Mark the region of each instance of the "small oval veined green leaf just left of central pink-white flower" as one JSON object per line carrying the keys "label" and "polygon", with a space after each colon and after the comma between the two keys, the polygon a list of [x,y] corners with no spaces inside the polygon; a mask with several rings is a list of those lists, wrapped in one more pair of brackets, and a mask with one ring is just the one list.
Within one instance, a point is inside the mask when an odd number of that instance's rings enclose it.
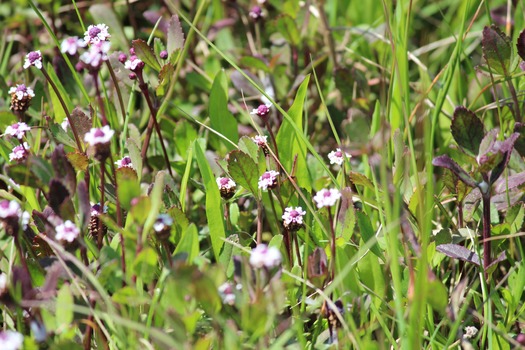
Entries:
{"label": "small oval veined green leaf just left of central pink-white flower", "polygon": [[259,172],[257,164],[249,155],[241,151],[231,151],[228,157],[228,172],[236,183],[257,196]]}

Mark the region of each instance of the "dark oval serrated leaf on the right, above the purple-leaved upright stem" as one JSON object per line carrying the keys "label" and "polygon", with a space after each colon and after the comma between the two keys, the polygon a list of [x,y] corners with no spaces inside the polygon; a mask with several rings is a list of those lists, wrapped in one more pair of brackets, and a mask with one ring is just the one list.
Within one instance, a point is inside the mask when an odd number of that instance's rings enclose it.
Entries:
{"label": "dark oval serrated leaf on the right, above the purple-leaved upright stem", "polygon": [[467,108],[460,106],[454,110],[450,131],[457,144],[473,156],[479,153],[479,145],[485,135],[483,123]]}

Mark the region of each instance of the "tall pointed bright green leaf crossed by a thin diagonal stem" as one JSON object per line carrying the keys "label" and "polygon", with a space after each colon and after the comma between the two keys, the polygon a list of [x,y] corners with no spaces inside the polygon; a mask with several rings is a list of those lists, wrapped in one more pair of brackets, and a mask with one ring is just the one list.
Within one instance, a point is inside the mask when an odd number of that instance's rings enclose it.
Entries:
{"label": "tall pointed bright green leaf crossed by a thin diagonal stem", "polygon": [[295,129],[291,124],[293,122],[299,130],[303,130],[303,108],[309,81],[310,76],[308,75],[297,90],[294,103],[288,111],[291,121],[285,119],[277,132],[277,147],[279,148],[280,161],[288,171],[291,171],[294,158],[297,155],[295,171],[297,184],[299,187],[311,191],[310,173],[306,166],[306,144],[301,140],[301,137],[295,133]]}

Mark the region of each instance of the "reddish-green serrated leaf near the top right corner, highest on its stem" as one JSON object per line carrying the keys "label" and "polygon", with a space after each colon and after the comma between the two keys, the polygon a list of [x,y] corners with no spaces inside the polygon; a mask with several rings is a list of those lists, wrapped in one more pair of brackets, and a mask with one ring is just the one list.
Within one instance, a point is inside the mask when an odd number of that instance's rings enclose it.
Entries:
{"label": "reddish-green serrated leaf near the top right corner, highest on its stem", "polygon": [[483,28],[481,45],[483,57],[490,69],[497,74],[508,76],[512,55],[510,38],[498,27],[486,26]]}

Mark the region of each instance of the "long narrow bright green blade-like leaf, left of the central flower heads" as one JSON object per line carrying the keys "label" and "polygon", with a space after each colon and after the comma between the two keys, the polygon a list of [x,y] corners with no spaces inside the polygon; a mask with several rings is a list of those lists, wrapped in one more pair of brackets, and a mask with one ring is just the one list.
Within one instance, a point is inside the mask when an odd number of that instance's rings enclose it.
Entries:
{"label": "long narrow bright green blade-like leaf, left of the central flower heads", "polygon": [[195,140],[193,143],[195,148],[195,157],[197,158],[197,164],[202,175],[202,181],[206,188],[206,218],[208,219],[208,227],[210,229],[210,239],[213,248],[213,254],[215,259],[218,260],[221,252],[222,245],[224,244],[224,237],[226,233],[224,231],[224,213],[222,210],[221,195],[215,176],[208,164],[208,160],[204,155],[199,141]]}

